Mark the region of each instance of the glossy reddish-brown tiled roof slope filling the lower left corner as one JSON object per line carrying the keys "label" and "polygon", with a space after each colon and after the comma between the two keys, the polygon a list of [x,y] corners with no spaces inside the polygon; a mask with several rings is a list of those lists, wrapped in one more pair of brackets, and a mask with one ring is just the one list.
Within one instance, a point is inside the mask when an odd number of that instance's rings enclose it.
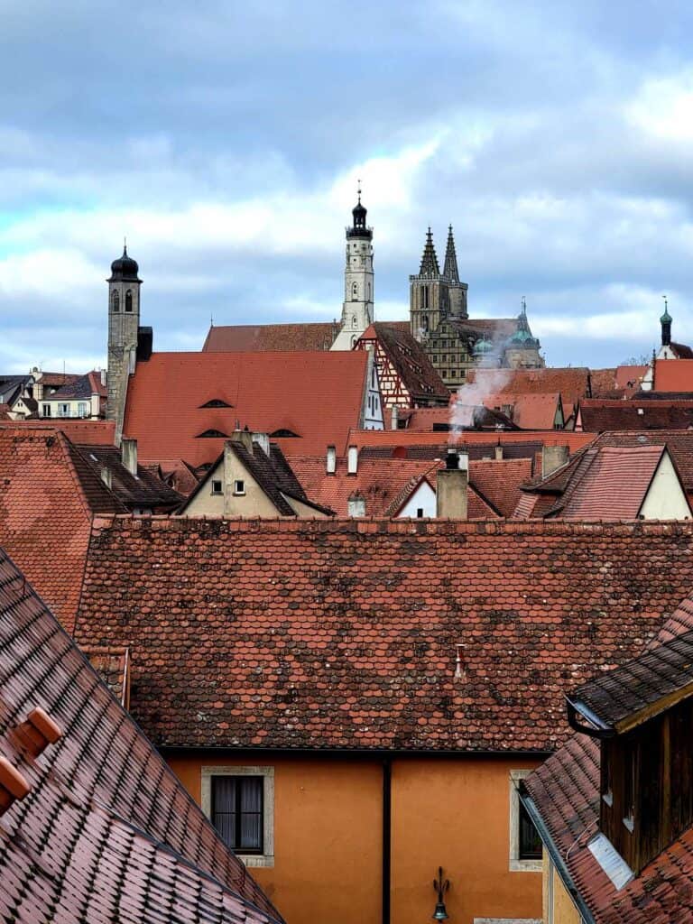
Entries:
{"label": "glossy reddish-brown tiled roof slope filling the lower left corner", "polygon": [[[0,650],[0,754],[30,784],[2,817],[0,919],[280,919],[2,551]],[[63,736],[33,758],[15,729],[37,706]]]}

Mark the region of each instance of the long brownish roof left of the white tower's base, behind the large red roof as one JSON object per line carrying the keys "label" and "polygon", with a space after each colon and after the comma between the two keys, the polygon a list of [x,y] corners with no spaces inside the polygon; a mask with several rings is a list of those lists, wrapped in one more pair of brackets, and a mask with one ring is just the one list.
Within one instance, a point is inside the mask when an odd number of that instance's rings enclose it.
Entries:
{"label": "long brownish roof left of the white tower's base, behind the large red roof", "polygon": [[327,350],[339,324],[231,324],[210,327],[202,346],[205,353],[245,353]]}

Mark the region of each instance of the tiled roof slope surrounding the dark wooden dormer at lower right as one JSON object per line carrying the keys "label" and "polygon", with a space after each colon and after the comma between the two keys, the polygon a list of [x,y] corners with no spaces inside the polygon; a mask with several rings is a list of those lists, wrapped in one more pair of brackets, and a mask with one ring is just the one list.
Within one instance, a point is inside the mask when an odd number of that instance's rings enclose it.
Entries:
{"label": "tiled roof slope surrounding the dark wooden dormer at lower right", "polygon": [[[650,650],[691,629],[693,602],[687,597],[650,643]],[[693,828],[616,891],[587,847],[599,822],[599,787],[599,742],[585,735],[569,738],[523,781],[594,920],[688,924],[693,917]]]}

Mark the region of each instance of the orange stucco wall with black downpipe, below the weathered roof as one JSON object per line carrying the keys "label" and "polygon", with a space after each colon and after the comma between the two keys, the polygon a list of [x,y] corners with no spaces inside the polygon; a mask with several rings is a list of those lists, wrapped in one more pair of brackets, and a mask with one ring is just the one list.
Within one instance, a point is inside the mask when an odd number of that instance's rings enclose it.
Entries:
{"label": "orange stucco wall with black downpipe, below the weathered roof", "polygon": [[[274,869],[253,869],[288,924],[381,924],[379,761],[170,757],[201,800],[201,766],[274,766]],[[439,866],[451,921],[541,918],[541,872],[508,871],[509,774],[531,760],[393,760],[392,924],[431,919]]]}

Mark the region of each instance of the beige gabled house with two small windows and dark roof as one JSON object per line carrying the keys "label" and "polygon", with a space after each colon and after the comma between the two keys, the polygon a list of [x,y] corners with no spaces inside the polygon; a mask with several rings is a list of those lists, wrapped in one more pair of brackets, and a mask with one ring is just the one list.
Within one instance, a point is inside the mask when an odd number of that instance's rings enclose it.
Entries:
{"label": "beige gabled house with two small windows and dark roof", "polygon": [[178,511],[188,517],[332,517],[310,502],[266,433],[237,430]]}

